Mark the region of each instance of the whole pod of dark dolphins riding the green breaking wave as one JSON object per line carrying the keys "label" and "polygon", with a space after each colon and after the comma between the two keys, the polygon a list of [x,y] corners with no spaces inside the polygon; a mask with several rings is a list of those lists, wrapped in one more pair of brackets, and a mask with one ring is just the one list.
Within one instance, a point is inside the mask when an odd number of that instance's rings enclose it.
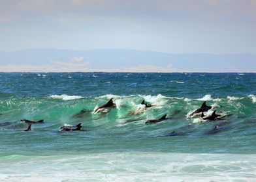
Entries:
{"label": "whole pod of dark dolphins riding the green breaking wave", "polygon": [[[154,105],[150,105],[150,104],[146,103],[144,100],[142,101],[141,105],[144,105],[144,108],[150,108],[150,107],[154,106]],[[101,112],[103,110],[111,109],[112,107],[116,107],[116,104],[113,102],[113,99],[111,98],[107,103],[104,103],[100,107],[97,107],[97,109],[94,110],[93,114],[95,114],[97,112]],[[202,103],[202,105],[199,107],[199,109],[195,109],[192,112],[188,113],[187,118],[192,118],[193,116],[198,116],[200,114],[200,118],[202,120],[212,121],[212,120],[223,120],[223,118],[225,118],[226,116],[230,116],[230,115],[217,114],[216,110],[214,110],[212,112],[212,114],[205,116],[204,112],[208,112],[208,110],[210,110],[210,109],[213,109],[213,107],[206,105],[206,101],[204,101]],[[88,110],[82,109],[82,110],[80,110],[80,112],[72,115],[71,118],[82,118],[83,114],[85,114],[87,112],[88,112]],[[177,114],[177,113],[175,113],[175,114]],[[135,121],[138,121],[141,119],[142,118],[127,120],[124,123],[135,122]],[[165,114],[161,118],[147,120],[145,122],[145,124],[159,123],[159,122],[163,122],[165,120],[171,120],[171,119],[172,119],[172,117],[167,117],[167,114]],[[20,122],[27,123],[27,125],[28,125],[27,129],[25,129],[24,131],[32,131],[31,125],[38,124],[38,123],[44,123],[44,120],[31,121],[31,120],[23,119],[23,120],[20,120]],[[217,131],[219,131],[219,129],[221,129],[221,127],[222,127],[221,125],[223,125],[224,123],[227,123],[227,122],[221,122],[221,123],[215,125],[214,128],[212,130],[208,131],[208,133],[206,133],[206,134],[217,133]],[[0,123],[0,126],[9,125],[9,124],[10,124],[9,122]],[[81,130],[81,128],[82,128],[82,123],[78,123],[77,125],[63,125],[62,127],[59,127],[59,131],[76,131],[76,130]],[[180,133],[176,133],[175,131],[172,131],[172,133],[165,135],[165,136],[176,136],[176,135],[180,135]]]}

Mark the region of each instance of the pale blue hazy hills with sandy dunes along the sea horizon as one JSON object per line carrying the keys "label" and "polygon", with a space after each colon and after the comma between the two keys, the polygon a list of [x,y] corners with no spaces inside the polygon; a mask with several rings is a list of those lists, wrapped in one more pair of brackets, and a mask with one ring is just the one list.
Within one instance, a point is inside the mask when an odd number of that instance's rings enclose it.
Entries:
{"label": "pale blue hazy hills with sandy dunes along the sea horizon", "polygon": [[256,55],[25,49],[0,51],[0,72],[256,72]]}

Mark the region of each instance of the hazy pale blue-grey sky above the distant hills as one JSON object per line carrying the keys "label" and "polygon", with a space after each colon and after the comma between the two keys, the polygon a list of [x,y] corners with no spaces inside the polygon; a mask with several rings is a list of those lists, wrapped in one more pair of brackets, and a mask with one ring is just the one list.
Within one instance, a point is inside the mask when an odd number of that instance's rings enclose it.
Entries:
{"label": "hazy pale blue-grey sky above the distant hills", "polygon": [[256,53],[256,0],[0,0],[0,50]]}

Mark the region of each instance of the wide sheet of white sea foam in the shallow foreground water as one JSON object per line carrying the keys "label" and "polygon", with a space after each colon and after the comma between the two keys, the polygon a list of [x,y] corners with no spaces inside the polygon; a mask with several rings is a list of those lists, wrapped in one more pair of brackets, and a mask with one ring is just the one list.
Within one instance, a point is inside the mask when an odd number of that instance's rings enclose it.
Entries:
{"label": "wide sheet of white sea foam in the shallow foreground water", "polygon": [[255,181],[255,165],[255,154],[16,155],[2,157],[0,181]]}

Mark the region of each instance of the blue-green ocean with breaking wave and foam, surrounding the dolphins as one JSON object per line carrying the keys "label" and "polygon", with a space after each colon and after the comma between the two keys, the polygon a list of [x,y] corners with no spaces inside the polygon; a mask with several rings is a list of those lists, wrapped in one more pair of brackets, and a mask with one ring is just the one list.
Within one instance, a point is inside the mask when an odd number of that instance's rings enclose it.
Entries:
{"label": "blue-green ocean with breaking wave and foam, surrounding the dolphins", "polygon": [[[256,73],[0,73],[0,181],[256,181],[255,88]],[[189,118],[203,101],[225,119]]]}

